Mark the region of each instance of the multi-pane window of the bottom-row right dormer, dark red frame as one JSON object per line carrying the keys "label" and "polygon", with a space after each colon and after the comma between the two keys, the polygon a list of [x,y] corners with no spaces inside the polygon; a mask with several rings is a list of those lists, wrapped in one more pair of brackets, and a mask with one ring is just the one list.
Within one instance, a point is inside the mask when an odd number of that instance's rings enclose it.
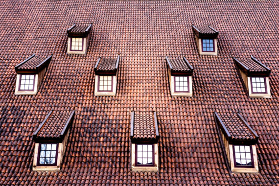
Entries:
{"label": "multi-pane window of the bottom-row right dormer, dark red frame", "polygon": [[235,167],[254,167],[251,145],[234,145],[233,156]]}

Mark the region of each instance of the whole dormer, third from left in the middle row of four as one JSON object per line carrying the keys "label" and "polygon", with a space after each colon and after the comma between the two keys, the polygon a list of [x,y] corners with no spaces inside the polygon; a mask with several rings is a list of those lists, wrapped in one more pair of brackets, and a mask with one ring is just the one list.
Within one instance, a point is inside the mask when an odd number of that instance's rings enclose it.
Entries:
{"label": "whole dormer, third from left in the middle row of four", "polygon": [[168,66],[169,84],[171,95],[173,96],[192,96],[192,75],[193,67],[186,58],[168,58],[166,57]]}

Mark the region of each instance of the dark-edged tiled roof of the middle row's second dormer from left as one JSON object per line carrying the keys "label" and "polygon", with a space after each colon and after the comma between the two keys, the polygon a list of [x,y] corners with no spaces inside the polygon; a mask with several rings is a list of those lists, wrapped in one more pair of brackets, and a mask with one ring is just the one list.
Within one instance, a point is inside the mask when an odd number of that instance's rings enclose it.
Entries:
{"label": "dark-edged tiled roof of the middle row's second dormer from left", "polygon": [[94,71],[97,75],[116,75],[118,65],[119,65],[120,56],[118,55],[117,58],[99,58],[95,67]]}

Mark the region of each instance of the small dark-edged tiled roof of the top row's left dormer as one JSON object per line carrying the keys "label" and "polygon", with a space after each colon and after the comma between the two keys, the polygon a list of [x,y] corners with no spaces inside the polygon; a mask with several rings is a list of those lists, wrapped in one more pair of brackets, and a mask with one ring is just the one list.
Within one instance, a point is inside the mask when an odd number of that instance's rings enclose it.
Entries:
{"label": "small dark-edged tiled roof of the top row's left dormer", "polygon": [[69,37],[85,38],[91,31],[92,24],[73,24],[68,30]]}

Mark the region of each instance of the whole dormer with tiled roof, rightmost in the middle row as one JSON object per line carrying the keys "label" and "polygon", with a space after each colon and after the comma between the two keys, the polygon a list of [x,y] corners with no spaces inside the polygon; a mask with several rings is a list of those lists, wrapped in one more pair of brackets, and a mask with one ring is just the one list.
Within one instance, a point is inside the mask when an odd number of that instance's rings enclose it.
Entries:
{"label": "whole dormer with tiled roof, rightmost in the middle row", "polygon": [[271,97],[269,86],[271,70],[268,67],[253,56],[248,60],[233,58],[233,61],[250,97]]}

